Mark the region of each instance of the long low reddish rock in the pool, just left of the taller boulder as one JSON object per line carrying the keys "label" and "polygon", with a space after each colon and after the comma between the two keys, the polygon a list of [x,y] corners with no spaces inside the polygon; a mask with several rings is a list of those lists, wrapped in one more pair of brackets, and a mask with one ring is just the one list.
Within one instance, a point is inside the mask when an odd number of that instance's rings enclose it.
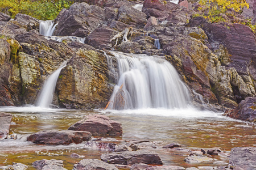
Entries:
{"label": "long low reddish rock in the pool, just left of the taller boulder", "polygon": [[73,130],[44,130],[32,134],[27,138],[40,145],[69,145],[70,143],[81,143],[88,141],[92,134],[88,131],[73,131]]}

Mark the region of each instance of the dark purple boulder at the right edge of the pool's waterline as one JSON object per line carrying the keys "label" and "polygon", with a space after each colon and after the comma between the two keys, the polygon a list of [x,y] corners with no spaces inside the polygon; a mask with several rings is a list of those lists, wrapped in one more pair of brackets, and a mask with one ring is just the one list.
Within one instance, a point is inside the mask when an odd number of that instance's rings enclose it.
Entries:
{"label": "dark purple boulder at the right edge of the pool's waterline", "polygon": [[247,97],[242,100],[236,109],[227,115],[242,121],[256,122],[256,97]]}

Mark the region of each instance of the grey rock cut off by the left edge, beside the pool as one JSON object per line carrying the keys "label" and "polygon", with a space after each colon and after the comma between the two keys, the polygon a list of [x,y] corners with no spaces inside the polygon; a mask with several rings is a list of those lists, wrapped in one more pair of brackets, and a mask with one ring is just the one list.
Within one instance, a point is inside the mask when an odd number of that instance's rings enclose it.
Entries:
{"label": "grey rock cut off by the left edge, beside the pool", "polygon": [[0,141],[6,139],[9,134],[11,118],[13,115],[9,113],[0,113]]}

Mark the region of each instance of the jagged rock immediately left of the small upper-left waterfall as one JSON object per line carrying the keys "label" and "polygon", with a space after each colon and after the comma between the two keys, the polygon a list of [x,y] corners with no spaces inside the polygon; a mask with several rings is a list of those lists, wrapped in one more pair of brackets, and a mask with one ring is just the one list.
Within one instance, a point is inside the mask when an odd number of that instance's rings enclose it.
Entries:
{"label": "jagged rock immediately left of the small upper-left waterfall", "polygon": [[16,14],[14,20],[11,22],[19,25],[20,28],[26,29],[26,31],[35,29],[39,32],[40,21],[32,16],[26,14]]}

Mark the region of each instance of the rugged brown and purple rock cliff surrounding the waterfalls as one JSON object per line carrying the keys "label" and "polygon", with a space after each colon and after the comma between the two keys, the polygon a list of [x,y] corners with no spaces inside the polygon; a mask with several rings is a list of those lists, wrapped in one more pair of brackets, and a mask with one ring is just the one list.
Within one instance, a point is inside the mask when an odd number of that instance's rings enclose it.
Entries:
{"label": "rugged brown and purple rock cliff surrounding the waterfalls", "polygon": [[[133,7],[136,4],[143,5],[142,11]],[[23,14],[10,20],[1,14],[0,105],[34,104],[47,76],[69,60],[57,81],[55,104],[105,107],[113,85],[101,50],[114,49],[165,56],[199,107],[198,95],[212,109],[237,107],[256,95],[255,33],[242,24],[191,19],[191,6],[158,0],[74,3],[55,19],[54,35],[85,37],[86,44],[47,40],[38,33],[39,20]],[[246,15],[254,18],[253,12]],[[127,41],[122,42],[123,36]]]}

